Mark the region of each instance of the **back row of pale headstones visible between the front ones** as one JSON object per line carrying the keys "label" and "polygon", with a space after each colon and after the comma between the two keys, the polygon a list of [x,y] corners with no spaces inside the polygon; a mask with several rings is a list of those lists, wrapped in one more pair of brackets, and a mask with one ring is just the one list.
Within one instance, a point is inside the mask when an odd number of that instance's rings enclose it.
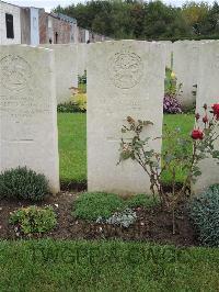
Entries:
{"label": "back row of pale headstones visible between the front ones", "polygon": [[[217,41],[161,41],[165,45],[165,66],[173,69],[177,83],[182,83],[177,99],[183,109],[195,105],[196,86],[198,82],[198,59],[204,43]],[[55,50],[57,102],[68,102],[71,87],[78,87],[78,76],[87,70],[88,44],[79,45],[45,45]],[[65,77],[65,78],[64,78]]]}

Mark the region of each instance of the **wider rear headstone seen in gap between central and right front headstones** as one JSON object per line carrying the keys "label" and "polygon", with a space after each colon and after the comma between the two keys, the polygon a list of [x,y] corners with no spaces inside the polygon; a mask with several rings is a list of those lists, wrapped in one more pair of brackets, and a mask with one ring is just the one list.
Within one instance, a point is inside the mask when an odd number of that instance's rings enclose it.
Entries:
{"label": "wider rear headstone seen in gap between central and right front headstones", "polygon": [[178,97],[184,109],[195,105],[195,96],[198,78],[198,56],[201,42],[178,41],[173,43],[173,71],[177,82],[183,83],[182,93]]}

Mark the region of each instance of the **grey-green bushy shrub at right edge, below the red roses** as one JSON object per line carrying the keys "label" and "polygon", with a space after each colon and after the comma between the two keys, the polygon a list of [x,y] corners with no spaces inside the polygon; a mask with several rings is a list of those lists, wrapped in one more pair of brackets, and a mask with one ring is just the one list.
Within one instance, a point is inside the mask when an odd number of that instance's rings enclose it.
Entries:
{"label": "grey-green bushy shrub at right edge, below the red roses", "polygon": [[219,184],[192,199],[188,212],[199,240],[219,247]]}

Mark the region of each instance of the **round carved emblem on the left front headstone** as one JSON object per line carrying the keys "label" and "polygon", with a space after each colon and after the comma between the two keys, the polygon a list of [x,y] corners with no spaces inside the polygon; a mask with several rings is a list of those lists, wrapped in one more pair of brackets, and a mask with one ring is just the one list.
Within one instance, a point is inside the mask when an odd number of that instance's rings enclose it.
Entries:
{"label": "round carved emblem on the left front headstone", "polygon": [[24,58],[16,55],[8,55],[0,59],[0,77],[8,90],[24,90],[27,87],[31,75],[31,66]]}

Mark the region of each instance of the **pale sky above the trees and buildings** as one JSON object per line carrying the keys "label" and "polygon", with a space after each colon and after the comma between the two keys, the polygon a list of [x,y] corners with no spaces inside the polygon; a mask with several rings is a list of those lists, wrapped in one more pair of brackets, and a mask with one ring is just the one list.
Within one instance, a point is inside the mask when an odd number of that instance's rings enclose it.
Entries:
{"label": "pale sky above the trees and buildings", "polygon": [[[72,3],[84,2],[85,0],[3,0],[4,2],[21,5],[21,7],[38,7],[45,8],[47,12],[50,12],[53,8],[56,8],[58,4],[66,7]],[[164,0],[165,3],[173,5],[181,5],[186,2],[186,0]],[[195,2],[200,2],[195,0]],[[214,0],[205,0],[205,2],[212,3]]]}

